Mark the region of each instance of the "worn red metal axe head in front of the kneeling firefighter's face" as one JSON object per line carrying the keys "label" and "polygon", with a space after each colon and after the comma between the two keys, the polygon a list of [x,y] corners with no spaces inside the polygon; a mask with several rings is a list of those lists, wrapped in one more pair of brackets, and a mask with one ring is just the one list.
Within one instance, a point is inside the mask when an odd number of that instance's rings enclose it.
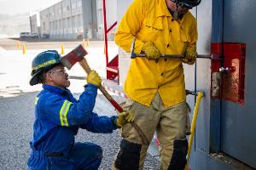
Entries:
{"label": "worn red metal axe head in front of the kneeling firefighter's face", "polygon": [[77,48],[74,48],[69,54],[61,57],[61,64],[66,66],[70,70],[74,64],[79,62],[81,59],[84,59],[84,56],[88,54],[82,45],[79,45]]}

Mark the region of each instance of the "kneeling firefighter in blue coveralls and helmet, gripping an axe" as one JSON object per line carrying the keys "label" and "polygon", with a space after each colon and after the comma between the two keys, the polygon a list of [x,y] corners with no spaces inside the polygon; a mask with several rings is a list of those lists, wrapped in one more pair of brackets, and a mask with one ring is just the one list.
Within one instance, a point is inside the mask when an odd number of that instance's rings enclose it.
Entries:
{"label": "kneeling firefighter in blue coveralls and helmet, gripping an axe", "polygon": [[79,100],[74,99],[67,89],[70,82],[59,59],[57,51],[48,50],[32,61],[30,84],[42,83],[44,89],[35,101],[28,169],[98,169],[102,161],[102,148],[92,143],[74,143],[79,128],[93,133],[112,133],[114,129],[133,121],[134,116],[129,111],[112,117],[97,116],[92,112],[97,87],[102,82],[96,71],[88,75],[88,84]]}

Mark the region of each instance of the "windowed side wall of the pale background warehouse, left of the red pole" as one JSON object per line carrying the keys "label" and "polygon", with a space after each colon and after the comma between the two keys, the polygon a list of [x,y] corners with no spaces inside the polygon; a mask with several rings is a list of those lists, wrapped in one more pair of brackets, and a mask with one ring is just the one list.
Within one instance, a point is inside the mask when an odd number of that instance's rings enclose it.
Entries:
{"label": "windowed side wall of the pale background warehouse, left of the red pole", "polygon": [[96,1],[63,0],[40,11],[41,37],[96,39]]}

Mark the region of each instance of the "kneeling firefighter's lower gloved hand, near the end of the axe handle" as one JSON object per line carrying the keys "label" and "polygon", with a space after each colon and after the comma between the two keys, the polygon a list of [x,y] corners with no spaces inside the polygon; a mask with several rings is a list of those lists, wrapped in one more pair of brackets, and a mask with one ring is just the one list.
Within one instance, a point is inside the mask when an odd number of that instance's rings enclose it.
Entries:
{"label": "kneeling firefighter's lower gloved hand, near the end of the axe handle", "polygon": [[123,111],[119,113],[118,118],[115,122],[117,127],[123,127],[126,123],[134,121],[134,114],[131,111]]}

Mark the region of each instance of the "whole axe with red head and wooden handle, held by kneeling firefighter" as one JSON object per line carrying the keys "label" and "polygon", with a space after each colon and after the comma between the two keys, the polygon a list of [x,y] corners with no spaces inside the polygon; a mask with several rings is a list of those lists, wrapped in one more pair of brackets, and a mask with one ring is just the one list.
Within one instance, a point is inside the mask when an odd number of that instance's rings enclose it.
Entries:
{"label": "whole axe with red head and wooden handle, held by kneeling firefighter", "polygon": [[[61,64],[65,65],[68,70],[71,69],[71,67],[79,62],[79,64],[83,67],[84,71],[89,74],[90,73],[90,66],[88,65],[86,59],[84,56],[88,54],[82,45],[79,45],[77,48],[74,48],[73,51],[71,51],[69,54],[61,57]],[[102,87],[102,85],[99,87],[102,94],[108,99],[108,101],[113,105],[113,107],[119,111],[119,113],[123,112],[123,108],[112,98],[110,94],[108,94],[107,90]],[[142,129],[137,126],[135,122],[131,122],[131,126],[134,127],[137,130],[137,133],[140,135],[143,144],[149,144],[149,141],[145,134],[143,133]]]}

